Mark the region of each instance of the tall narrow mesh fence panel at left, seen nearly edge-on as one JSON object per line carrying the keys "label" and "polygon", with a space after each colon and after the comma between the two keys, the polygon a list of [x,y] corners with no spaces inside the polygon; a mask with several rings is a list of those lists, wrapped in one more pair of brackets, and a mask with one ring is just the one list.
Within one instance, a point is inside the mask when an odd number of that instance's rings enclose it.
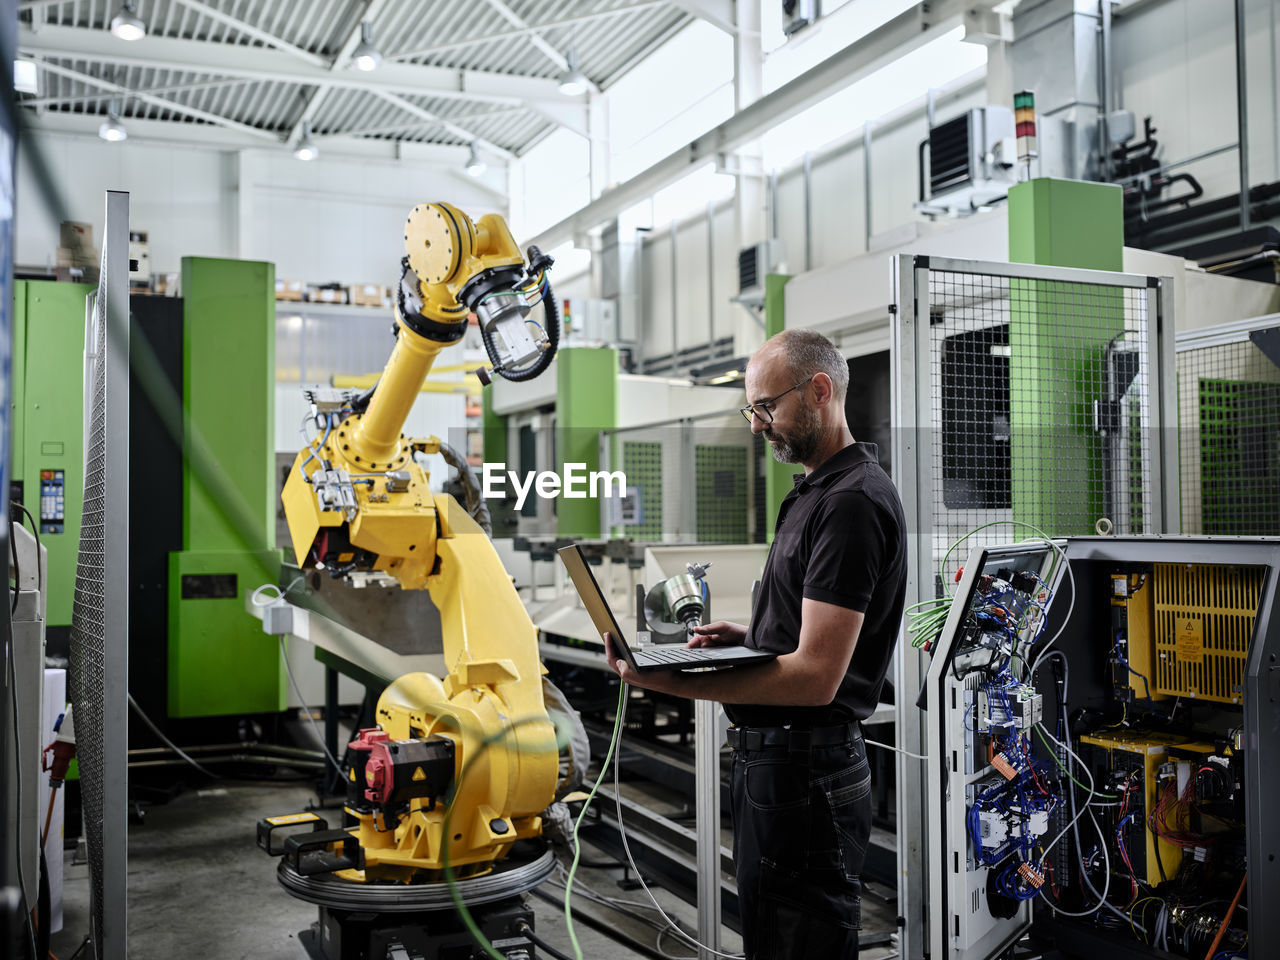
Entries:
{"label": "tall narrow mesh fence panel at left, seen nearly edge-on", "polygon": [[72,699],[76,704],[76,750],[81,803],[88,846],[92,936],[102,956],[102,823],[105,812],[106,713],[106,270],[93,301],[87,355],[87,426],[84,435],[84,507],[72,608]]}

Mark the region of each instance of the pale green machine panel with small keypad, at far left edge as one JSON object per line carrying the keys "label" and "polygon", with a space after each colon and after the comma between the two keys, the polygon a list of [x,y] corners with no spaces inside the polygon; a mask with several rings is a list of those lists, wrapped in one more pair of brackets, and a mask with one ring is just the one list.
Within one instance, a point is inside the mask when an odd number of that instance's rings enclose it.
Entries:
{"label": "pale green machine panel with small keypad, at far left edge", "polygon": [[49,557],[50,627],[69,627],[84,499],[84,298],[93,285],[14,283],[13,477]]}

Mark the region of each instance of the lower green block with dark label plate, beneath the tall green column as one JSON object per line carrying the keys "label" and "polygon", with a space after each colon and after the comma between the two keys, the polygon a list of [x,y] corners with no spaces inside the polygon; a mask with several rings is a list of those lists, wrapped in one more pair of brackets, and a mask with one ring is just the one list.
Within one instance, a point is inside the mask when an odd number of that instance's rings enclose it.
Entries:
{"label": "lower green block with dark label plate, beneath the tall green column", "polygon": [[244,591],[279,577],[276,550],[169,554],[169,716],[287,707],[279,641],[244,612]]}

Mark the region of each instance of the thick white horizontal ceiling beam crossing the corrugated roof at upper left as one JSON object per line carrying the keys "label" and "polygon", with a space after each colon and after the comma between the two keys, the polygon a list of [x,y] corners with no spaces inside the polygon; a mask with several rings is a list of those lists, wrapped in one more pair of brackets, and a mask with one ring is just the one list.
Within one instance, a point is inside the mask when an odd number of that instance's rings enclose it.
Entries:
{"label": "thick white horizontal ceiling beam crossing the corrugated roof at upper left", "polygon": [[41,24],[18,24],[18,50],[24,55],[63,56],[119,67],[207,73],[223,77],[346,87],[370,92],[431,96],[442,100],[517,106],[532,100],[562,100],[559,84],[541,77],[518,77],[481,70],[383,63],[376,70],[330,72],[302,63],[279,50],[236,44],[202,44],[195,40],[146,36],[122,44],[104,29]]}

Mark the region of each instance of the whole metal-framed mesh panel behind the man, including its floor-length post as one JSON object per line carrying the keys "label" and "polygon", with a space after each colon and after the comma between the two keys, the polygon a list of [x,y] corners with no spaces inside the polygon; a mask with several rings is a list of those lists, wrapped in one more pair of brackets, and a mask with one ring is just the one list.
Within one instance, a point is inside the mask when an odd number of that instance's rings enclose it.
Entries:
{"label": "whole metal-framed mesh panel behind the man, including its floor-length post", "polygon": [[[1160,280],[899,256],[893,283],[892,465],[908,520],[910,600],[943,596],[943,577],[978,547],[1041,532],[1176,531],[1178,465],[1166,429],[1175,416],[1174,317]],[[919,690],[923,655],[910,644],[899,652],[895,685]],[[899,744],[928,749],[920,712],[909,699],[897,704]],[[920,801],[922,769],[897,769],[904,956],[961,936],[959,925],[933,925],[941,890],[927,891],[924,878],[954,881],[924,869],[937,835]],[[950,902],[965,902],[955,883]]]}

